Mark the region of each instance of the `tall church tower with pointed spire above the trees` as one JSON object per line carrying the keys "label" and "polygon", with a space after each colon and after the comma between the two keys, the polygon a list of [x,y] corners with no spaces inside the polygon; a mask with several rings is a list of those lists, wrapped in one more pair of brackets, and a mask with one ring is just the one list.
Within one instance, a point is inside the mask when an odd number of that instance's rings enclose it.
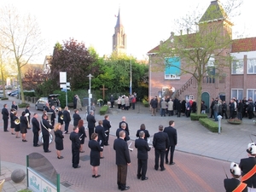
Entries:
{"label": "tall church tower with pointed spire above the trees", "polygon": [[126,34],[125,34],[125,28],[123,26],[123,23],[120,17],[120,9],[119,9],[119,15],[117,17],[116,25],[114,27],[113,52],[116,52],[117,55],[121,53],[126,53]]}

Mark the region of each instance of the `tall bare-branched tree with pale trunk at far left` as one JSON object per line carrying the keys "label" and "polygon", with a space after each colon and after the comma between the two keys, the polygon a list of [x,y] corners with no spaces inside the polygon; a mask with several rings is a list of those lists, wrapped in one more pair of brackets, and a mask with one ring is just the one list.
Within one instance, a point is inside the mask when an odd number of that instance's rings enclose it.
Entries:
{"label": "tall bare-branched tree with pale trunk at far left", "polygon": [[20,15],[12,6],[0,10],[0,46],[14,55],[20,84],[22,102],[25,102],[23,84],[21,81],[21,67],[39,55],[43,50],[44,40],[40,38],[37,20],[30,15]]}

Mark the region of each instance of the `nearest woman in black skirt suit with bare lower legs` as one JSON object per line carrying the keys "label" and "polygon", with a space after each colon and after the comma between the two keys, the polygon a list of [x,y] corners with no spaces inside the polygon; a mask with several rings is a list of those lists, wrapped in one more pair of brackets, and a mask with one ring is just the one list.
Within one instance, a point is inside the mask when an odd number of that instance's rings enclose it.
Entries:
{"label": "nearest woman in black skirt suit with bare lower legs", "polygon": [[101,177],[98,175],[98,166],[100,166],[100,152],[103,148],[100,146],[100,143],[97,142],[98,134],[95,132],[91,134],[91,140],[88,143],[90,148],[90,166],[92,171],[92,177]]}

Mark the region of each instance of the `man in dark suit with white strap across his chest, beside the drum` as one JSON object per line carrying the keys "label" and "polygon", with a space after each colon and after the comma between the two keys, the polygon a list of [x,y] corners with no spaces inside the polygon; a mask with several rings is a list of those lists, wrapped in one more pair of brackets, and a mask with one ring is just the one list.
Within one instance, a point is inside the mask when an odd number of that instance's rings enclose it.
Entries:
{"label": "man in dark suit with white strap across his chest, beside the drum", "polygon": [[47,120],[47,114],[43,114],[43,120],[41,121],[41,130],[44,139],[44,153],[49,153],[49,132],[53,129],[53,126],[49,124]]}

